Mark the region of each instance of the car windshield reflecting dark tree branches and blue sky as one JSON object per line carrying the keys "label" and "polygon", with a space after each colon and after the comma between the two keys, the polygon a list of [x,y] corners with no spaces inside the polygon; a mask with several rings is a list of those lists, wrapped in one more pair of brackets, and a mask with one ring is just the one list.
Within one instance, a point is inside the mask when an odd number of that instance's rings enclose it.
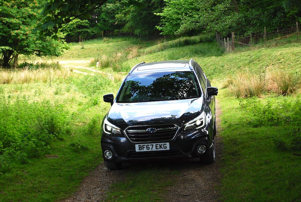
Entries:
{"label": "car windshield reflecting dark tree branches and blue sky", "polygon": [[117,102],[180,100],[200,97],[191,71],[132,75],[123,83]]}

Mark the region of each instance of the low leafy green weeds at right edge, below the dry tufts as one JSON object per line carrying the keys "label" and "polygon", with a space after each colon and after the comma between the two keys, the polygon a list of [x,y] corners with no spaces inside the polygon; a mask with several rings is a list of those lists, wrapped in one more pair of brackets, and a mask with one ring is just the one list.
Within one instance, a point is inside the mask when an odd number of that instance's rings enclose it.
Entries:
{"label": "low leafy green weeds at right edge, below the dry tufts", "polygon": [[283,126],[286,132],[273,136],[275,146],[281,150],[301,149],[301,97],[285,97],[275,101],[261,101],[258,98],[240,99],[240,107],[253,113],[248,120],[252,126]]}

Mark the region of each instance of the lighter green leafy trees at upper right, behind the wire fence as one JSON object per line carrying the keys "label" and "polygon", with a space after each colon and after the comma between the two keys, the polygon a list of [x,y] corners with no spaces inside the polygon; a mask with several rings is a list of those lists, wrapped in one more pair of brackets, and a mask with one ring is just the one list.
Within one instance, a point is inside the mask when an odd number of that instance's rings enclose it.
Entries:
{"label": "lighter green leafy trees at upper right, behind the wire fence", "polygon": [[166,0],[166,7],[159,13],[162,17],[158,26],[166,35],[187,35],[200,32],[222,33],[228,36],[249,36],[262,33],[263,27],[277,27],[296,23],[301,8],[297,1],[237,1],[237,0]]}

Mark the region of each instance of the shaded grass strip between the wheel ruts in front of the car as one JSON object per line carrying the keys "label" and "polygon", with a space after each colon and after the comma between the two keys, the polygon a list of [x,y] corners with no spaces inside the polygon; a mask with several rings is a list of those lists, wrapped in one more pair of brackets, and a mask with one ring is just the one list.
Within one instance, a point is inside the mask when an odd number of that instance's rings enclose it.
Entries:
{"label": "shaded grass strip between the wheel ruts in front of the car", "polygon": [[174,184],[172,178],[178,173],[154,164],[147,166],[135,165],[135,169],[127,170],[126,178],[111,186],[105,201],[164,201],[162,195],[166,193],[165,188]]}

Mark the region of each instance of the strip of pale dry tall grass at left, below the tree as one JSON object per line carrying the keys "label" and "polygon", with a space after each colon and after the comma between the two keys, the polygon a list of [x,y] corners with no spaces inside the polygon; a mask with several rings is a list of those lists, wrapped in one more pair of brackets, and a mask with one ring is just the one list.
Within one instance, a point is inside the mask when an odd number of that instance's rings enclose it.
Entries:
{"label": "strip of pale dry tall grass at left, below the tree", "polygon": [[55,79],[66,79],[72,74],[69,68],[18,69],[0,70],[0,84],[48,82]]}

